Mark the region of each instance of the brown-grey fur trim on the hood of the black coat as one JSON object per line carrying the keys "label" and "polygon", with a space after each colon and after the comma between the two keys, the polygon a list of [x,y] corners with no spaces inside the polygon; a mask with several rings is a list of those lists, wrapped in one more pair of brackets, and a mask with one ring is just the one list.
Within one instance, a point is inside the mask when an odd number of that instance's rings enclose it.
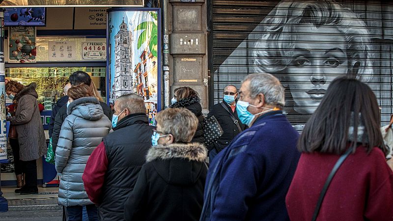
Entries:
{"label": "brown-grey fur trim on the hood of the black coat", "polygon": [[169,145],[157,145],[150,148],[146,155],[146,162],[169,160],[173,158],[203,162],[206,156],[206,148],[201,143],[172,143]]}

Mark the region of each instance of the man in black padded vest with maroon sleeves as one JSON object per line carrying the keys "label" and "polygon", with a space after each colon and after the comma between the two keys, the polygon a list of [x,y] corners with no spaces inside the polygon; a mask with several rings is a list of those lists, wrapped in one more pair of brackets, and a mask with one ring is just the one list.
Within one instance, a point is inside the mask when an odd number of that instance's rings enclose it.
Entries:
{"label": "man in black padded vest with maroon sleeves", "polygon": [[118,97],[113,110],[113,133],[90,155],[82,178],[100,220],[122,221],[124,202],[146,162],[155,127],[149,125],[143,98],[137,94]]}

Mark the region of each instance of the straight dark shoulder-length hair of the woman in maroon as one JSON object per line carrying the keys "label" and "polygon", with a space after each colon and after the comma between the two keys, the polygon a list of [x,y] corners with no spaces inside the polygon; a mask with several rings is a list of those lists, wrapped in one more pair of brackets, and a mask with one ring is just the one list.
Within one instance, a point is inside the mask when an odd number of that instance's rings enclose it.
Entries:
{"label": "straight dark shoulder-length hair of the woman in maroon", "polygon": [[[358,134],[358,128],[363,127],[363,134]],[[388,154],[379,127],[378,103],[371,88],[356,79],[337,78],[307,122],[298,149],[343,154],[349,145],[362,143],[368,152],[379,147]]]}

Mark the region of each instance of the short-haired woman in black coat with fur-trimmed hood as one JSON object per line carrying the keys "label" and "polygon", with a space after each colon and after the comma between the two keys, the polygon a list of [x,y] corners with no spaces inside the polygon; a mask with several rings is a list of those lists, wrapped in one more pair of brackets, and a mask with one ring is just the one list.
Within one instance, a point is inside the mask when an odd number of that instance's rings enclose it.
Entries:
{"label": "short-haired woman in black coat with fur-trimmed hood", "polygon": [[199,221],[207,150],[190,143],[197,117],[187,109],[169,108],[156,116],[146,164],[124,207],[127,221]]}

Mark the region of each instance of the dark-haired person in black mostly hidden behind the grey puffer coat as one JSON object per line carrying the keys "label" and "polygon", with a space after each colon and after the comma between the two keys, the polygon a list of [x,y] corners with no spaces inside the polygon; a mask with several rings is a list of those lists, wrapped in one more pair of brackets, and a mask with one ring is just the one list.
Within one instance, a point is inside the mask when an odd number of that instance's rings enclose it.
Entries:
{"label": "dark-haired person in black mostly hidden behind the grey puffer coat", "polygon": [[[102,97],[98,94],[97,88],[95,87],[93,81],[91,80],[90,76],[84,72],[84,71],[76,71],[72,73],[69,77],[70,83],[72,86],[80,85],[80,84],[86,84],[89,86],[92,90],[93,97],[97,98],[98,101],[100,102],[100,106],[102,110],[104,111],[104,114],[112,120],[112,115],[113,112],[111,108],[103,102]],[[67,107],[66,105],[63,105],[58,111],[55,116],[55,124],[53,126],[53,132],[52,132],[52,146],[53,146],[53,151],[56,151],[57,147],[57,141],[58,141],[58,135],[60,133],[61,125],[64,122],[64,119],[67,117]]]}

